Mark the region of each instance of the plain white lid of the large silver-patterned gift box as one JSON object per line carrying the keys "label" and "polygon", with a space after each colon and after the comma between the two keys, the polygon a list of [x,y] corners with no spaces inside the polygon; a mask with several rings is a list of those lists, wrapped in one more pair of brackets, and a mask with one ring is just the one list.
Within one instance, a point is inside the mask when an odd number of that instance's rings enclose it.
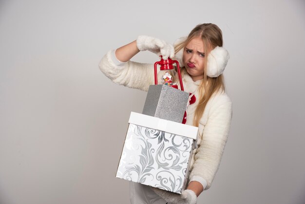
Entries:
{"label": "plain white lid of the large silver-patterned gift box", "polygon": [[198,127],[131,112],[128,123],[197,140]]}

